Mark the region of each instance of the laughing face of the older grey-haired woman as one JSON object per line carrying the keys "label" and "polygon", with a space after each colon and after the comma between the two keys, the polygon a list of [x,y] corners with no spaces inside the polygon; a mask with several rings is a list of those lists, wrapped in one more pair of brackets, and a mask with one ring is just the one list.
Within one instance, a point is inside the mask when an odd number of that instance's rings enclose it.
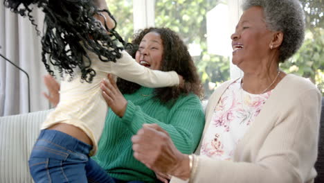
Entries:
{"label": "laughing face of the older grey-haired woman", "polygon": [[264,12],[260,6],[244,11],[231,36],[233,46],[233,64],[246,69],[255,69],[269,56],[272,33],[264,21]]}

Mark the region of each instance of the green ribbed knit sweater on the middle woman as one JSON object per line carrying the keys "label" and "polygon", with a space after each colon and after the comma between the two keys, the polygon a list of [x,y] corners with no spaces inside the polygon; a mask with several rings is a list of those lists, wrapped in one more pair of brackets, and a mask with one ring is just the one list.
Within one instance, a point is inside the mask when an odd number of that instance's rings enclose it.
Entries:
{"label": "green ribbed knit sweater on the middle woman", "polygon": [[93,159],[111,177],[118,180],[156,182],[153,171],[133,157],[131,137],[144,123],[156,123],[166,130],[175,146],[190,154],[201,138],[205,116],[199,98],[194,94],[180,96],[171,107],[153,97],[153,89],[141,87],[125,94],[128,101],[123,118],[109,110],[98,152]]}

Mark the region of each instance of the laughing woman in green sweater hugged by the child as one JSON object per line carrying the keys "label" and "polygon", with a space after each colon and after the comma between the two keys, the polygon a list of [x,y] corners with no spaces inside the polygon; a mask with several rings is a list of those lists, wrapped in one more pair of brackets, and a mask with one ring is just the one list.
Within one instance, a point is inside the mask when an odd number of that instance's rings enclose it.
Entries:
{"label": "laughing woman in green sweater hugged by the child", "polygon": [[[181,87],[152,89],[122,79],[118,79],[117,87],[111,77],[103,81],[102,96],[113,112],[108,112],[93,159],[116,182],[156,182],[156,177],[165,182],[167,175],[154,173],[134,158],[131,138],[143,124],[157,123],[170,134],[181,153],[194,152],[204,129],[204,111],[199,100],[201,84],[186,45],[172,30],[147,28],[135,35],[132,43],[139,45],[129,51],[138,63],[150,69],[177,71],[186,82]],[[53,78],[46,80],[52,96],[57,96],[57,83]],[[48,99],[52,103],[57,101]],[[90,177],[95,177],[96,172],[87,169]]]}

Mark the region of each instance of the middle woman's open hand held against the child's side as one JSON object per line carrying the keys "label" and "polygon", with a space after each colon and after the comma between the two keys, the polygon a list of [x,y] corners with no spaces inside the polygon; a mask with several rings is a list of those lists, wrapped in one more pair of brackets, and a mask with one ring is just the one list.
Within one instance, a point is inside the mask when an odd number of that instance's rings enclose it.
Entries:
{"label": "middle woman's open hand held against the child's side", "polygon": [[104,79],[100,83],[102,96],[111,110],[120,117],[123,117],[127,107],[127,101],[119,91],[114,78],[108,74],[108,80]]}

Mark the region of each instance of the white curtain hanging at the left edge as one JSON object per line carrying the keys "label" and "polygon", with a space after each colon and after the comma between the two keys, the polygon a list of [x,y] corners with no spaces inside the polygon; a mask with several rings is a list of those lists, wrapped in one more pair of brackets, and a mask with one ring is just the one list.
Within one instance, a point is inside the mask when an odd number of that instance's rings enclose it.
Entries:
{"label": "white curtain hanging at the left edge", "polygon": [[[43,28],[44,14],[34,10],[33,17]],[[30,112],[46,110],[48,101],[42,96],[46,91],[43,76],[46,74],[41,60],[42,46],[35,26],[28,17],[21,17],[0,3],[0,53],[24,69],[30,78]],[[27,113],[28,82],[26,75],[0,58],[0,116]]]}

